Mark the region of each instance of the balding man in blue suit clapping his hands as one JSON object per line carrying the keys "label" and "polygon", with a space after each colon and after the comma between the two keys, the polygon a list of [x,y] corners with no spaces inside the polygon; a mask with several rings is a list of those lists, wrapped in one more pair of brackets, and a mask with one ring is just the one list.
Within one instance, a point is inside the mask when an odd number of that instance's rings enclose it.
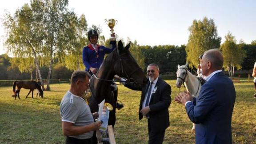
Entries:
{"label": "balding man in blue suit clapping his hands", "polygon": [[217,49],[204,53],[202,71],[207,82],[199,97],[189,92],[176,96],[189,119],[196,124],[196,144],[232,144],[231,118],[236,99],[232,80],[222,72],[223,56]]}

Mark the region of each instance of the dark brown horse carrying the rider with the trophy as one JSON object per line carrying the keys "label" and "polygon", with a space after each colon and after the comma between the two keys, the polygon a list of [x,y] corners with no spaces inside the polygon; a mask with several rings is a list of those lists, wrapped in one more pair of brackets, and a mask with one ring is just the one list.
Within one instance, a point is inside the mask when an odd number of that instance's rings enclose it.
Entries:
{"label": "dark brown horse carrying the rider with the trophy", "polygon": [[105,99],[105,102],[112,104],[113,110],[110,111],[108,125],[114,127],[116,122],[116,104],[114,94],[111,90],[111,83],[115,75],[127,79],[126,83],[134,83],[138,87],[143,87],[146,83],[146,76],[136,60],[129,52],[130,44],[125,48],[121,41],[118,47],[113,50],[104,60],[100,69],[90,80],[92,96],[89,99],[89,106],[92,112],[98,112],[98,104]]}

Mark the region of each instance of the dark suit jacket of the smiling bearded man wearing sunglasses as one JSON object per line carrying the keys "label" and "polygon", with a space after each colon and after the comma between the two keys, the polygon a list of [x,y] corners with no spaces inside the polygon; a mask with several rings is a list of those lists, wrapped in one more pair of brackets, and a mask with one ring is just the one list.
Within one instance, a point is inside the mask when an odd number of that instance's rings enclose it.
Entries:
{"label": "dark suit jacket of the smiling bearded man wearing sunglasses", "polygon": [[[140,98],[140,110],[142,109],[142,104],[147,93],[148,85],[149,80],[147,85],[143,88],[136,88],[132,84],[125,84],[125,86],[128,88],[142,91]],[[156,92],[152,93],[149,101],[149,120],[151,124],[150,127],[153,132],[163,131],[170,125],[168,107],[171,104],[171,86],[159,77],[155,85],[155,88],[156,87]],[[143,115],[139,112],[139,119],[141,120],[142,118]]]}

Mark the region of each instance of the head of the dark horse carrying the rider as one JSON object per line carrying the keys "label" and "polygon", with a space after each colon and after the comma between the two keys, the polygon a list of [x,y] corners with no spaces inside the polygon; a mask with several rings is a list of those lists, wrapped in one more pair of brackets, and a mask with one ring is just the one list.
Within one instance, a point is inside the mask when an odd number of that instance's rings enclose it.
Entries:
{"label": "head of the dark horse carrying the rider", "polygon": [[118,59],[115,62],[114,71],[116,75],[126,78],[128,82],[143,87],[146,84],[147,78],[129,52],[130,44],[131,42],[124,47],[121,40],[118,42],[116,49]]}

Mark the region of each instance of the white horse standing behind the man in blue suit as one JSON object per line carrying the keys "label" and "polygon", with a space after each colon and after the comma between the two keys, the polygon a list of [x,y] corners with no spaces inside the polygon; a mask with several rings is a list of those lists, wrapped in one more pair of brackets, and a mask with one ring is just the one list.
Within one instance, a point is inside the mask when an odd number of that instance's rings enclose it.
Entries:
{"label": "white horse standing behind the man in blue suit", "polygon": [[[184,84],[186,90],[190,92],[193,97],[199,96],[200,89],[204,84],[205,80],[200,79],[200,77],[198,76],[192,75],[192,73],[188,71],[188,63],[181,66],[178,64],[178,70],[176,74],[177,88],[180,88],[181,85]],[[193,124],[193,128],[191,130],[195,130],[195,124]]]}

